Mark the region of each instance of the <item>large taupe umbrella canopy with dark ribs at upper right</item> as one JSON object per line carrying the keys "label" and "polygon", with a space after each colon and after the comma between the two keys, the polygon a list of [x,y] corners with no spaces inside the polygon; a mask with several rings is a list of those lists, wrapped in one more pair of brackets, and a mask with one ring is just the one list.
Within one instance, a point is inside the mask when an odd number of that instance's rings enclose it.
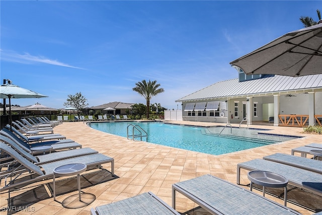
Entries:
{"label": "large taupe umbrella canopy with dark ribs at upper right", "polygon": [[289,32],[233,60],[247,75],[307,76],[322,74],[322,20]]}

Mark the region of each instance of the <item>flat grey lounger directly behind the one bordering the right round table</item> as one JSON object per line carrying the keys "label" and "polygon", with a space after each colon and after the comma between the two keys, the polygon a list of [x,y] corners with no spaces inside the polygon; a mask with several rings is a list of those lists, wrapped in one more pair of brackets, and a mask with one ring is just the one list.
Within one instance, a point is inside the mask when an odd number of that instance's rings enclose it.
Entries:
{"label": "flat grey lounger directly behind the one bordering the right round table", "polygon": [[322,174],[321,161],[282,153],[276,153],[274,155],[265,156],[263,159]]}

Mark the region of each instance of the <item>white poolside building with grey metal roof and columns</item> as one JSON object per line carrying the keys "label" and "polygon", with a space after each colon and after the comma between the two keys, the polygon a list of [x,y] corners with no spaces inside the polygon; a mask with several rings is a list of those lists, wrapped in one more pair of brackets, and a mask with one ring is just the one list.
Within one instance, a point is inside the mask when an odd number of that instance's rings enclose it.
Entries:
{"label": "white poolside building with grey metal roof and columns", "polygon": [[[176,100],[182,103],[183,120],[274,121],[276,126],[303,126],[322,117],[322,74],[288,77],[247,76],[243,70],[238,73],[238,79],[217,82]],[[298,122],[294,124],[294,120]]]}

